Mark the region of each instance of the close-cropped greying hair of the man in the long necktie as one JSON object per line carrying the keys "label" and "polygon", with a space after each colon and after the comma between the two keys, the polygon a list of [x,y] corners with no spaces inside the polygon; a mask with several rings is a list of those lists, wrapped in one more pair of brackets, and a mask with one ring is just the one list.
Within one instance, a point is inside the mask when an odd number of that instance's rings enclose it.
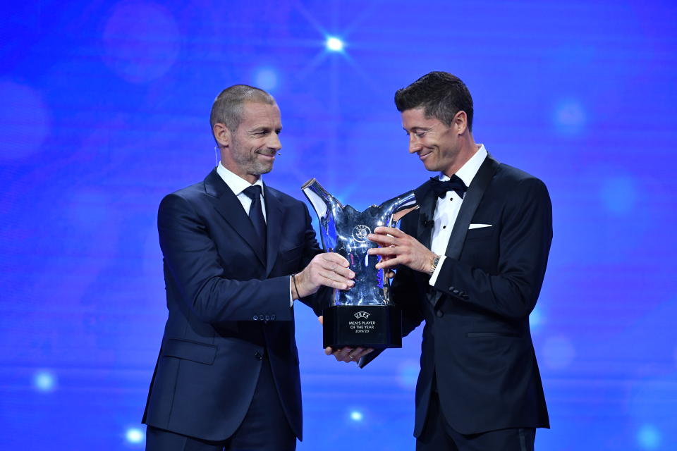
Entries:
{"label": "close-cropped greying hair of the man in the long necktie", "polygon": [[228,130],[235,132],[242,123],[242,106],[246,101],[274,105],[275,99],[263,89],[249,85],[233,85],[227,87],[214,99],[209,125],[214,134],[214,125],[221,123]]}

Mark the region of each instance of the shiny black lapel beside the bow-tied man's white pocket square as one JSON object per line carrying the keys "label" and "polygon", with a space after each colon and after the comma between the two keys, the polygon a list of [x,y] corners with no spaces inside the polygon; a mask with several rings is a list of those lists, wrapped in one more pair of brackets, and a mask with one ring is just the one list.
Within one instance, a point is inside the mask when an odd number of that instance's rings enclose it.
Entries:
{"label": "shiny black lapel beside the bow-tied man's white pocket square", "polygon": [[453,224],[451,236],[449,237],[449,244],[446,246],[445,255],[452,259],[458,259],[463,250],[463,243],[465,243],[465,235],[468,235],[468,227],[472,216],[475,215],[477,206],[480,205],[484,191],[487,190],[489,183],[494,177],[496,168],[499,167],[499,162],[494,160],[492,156],[487,155],[487,158],[482,162],[482,166],[472,179],[468,192],[465,193],[465,199],[461,204],[461,210],[458,211],[456,222]]}

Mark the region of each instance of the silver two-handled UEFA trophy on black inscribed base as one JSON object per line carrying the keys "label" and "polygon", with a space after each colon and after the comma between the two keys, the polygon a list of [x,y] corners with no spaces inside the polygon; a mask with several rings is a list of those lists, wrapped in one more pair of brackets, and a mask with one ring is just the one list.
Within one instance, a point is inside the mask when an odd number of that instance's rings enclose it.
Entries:
{"label": "silver two-handled UEFA trophy on black inscribed base", "polygon": [[394,227],[401,216],[415,209],[414,192],[357,211],[343,206],[315,178],[301,190],[319,218],[324,251],[345,257],[355,273],[355,285],[335,290],[331,306],[324,309],[324,347],[402,347],[402,313],[389,299],[384,271],[376,268],[381,257],[367,254],[367,249],[378,246],[367,235],[379,226]]}

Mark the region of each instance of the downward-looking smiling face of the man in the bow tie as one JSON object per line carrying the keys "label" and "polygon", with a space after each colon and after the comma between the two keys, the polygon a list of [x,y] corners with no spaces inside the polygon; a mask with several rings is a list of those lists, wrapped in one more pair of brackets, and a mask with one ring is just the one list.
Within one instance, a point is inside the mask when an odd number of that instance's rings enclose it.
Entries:
{"label": "downward-looking smiling face of the man in the bow tie", "polygon": [[458,111],[451,125],[426,118],[423,108],[402,111],[402,126],[409,137],[409,153],[417,154],[428,171],[453,175],[468,161],[464,142],[465,112]]}

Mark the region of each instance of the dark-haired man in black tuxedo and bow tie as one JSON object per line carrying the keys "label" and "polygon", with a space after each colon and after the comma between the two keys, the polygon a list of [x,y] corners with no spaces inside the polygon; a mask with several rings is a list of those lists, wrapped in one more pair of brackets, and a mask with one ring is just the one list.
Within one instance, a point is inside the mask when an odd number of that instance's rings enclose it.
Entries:
{"label": "dark-haired man in black tuxedo and bow tie", "polygon": [[529,329],[552,239],[547,188],[475,144],[472,98],[454,75],[424,75],[395,103],[410,154],[439,173],[417,187],[420,209],[401,230],[370,235],[377,267],[397,268],[405,333],[425,320],[416,449],[533,450],[535,428],[549,427]]}

